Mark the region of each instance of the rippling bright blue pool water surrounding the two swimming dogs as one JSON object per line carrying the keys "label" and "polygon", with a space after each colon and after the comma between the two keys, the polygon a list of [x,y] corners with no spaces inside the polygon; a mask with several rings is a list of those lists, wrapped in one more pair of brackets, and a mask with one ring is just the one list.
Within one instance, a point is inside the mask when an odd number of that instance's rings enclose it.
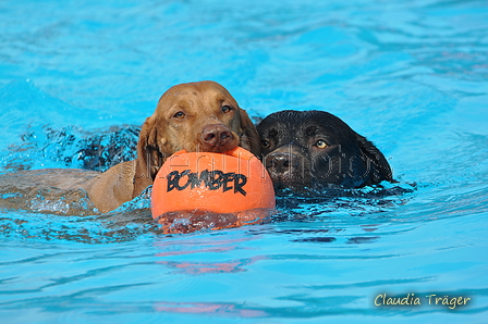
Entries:
{"label": "rippling bright blue pool water surrounding the two swimming dogs", "polygon": [[[176,236],[144,199],[101,216],[2,204],[2,321],[487,322],[487,29],[475,0],[0,2],[2,172],[78,166],[84,138],[213,79],[255,117],[337,114],[416,184]],[[375,306],[382,294],[422,306]]]}

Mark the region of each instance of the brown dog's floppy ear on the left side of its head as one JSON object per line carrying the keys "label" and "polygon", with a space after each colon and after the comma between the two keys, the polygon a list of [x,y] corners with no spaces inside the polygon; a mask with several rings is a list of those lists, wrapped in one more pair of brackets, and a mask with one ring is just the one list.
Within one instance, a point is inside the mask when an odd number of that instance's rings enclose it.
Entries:
{"label": "brown dog's floppy ear on the left side of its head", "polygon": [[[164,139],[159,139],[161,142]],[[156,127],[156,117],[152,115],[147,117],[141,128],[139,140],[137,141],[137,159],[134,175],[134,190],[133,198],[141,195],[141,192],[152,182],[158,173],[159,167],[163,163],[163,154],[159,149],[158,129]]]}

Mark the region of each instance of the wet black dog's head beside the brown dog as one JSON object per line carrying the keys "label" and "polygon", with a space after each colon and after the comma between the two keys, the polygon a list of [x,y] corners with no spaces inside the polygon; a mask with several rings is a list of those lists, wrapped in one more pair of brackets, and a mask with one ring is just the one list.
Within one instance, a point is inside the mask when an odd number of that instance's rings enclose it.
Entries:
{"label": "wet black dog's head beside the brown dog", "polygon": [[339,117],[280,111],[257,126],[263,162],[277,189],[358,188],[392,180],[383,154]]}

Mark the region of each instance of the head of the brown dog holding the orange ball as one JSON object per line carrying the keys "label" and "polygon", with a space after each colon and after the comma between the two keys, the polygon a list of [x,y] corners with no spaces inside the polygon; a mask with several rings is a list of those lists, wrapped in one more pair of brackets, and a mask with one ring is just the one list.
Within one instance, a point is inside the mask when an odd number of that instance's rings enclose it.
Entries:
{"label": "head of the brown dog holding the orange ball", "polygon": [[224,87],[215,82],[174,86],[141,129],[133,196],[152,184],[174,152],[225,152],[237,146],[260,153],[256,127]]}

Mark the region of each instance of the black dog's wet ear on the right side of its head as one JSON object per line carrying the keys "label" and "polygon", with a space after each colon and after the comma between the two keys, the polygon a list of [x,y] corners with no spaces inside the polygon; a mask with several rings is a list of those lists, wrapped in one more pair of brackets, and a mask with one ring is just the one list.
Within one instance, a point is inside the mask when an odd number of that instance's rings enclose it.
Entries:
{"label": "black dog's wet ear on the right side of its head", "polygon": [[[354,132],[355,133],[355,132]],[[393,180],[393,175],[391,172],[390,164],[388,163],[385,155],[378,150],[378,148],[366,139],[366,137],[361,136],[359,134],[355,133],[356,135],[356,141],[359,145],[361,151],[363,154],[366,155],[367,159],[369,159],[370,163],[370,175],[371,179],[375,184],[378,184],[382,180]]]}

